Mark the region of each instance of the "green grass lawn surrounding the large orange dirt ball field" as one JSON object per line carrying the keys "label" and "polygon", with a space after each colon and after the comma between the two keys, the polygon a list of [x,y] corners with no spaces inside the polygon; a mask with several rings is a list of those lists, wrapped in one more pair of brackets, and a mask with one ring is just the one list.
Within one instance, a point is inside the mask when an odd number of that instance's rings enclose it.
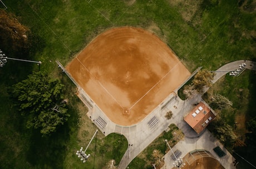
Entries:
{"label": "green grass lawn surrounding the large orange dirt ball field", "polygon": [[[82,168],[84,164],[75,156],[80,146],[85,147],[96,127],[85,116],[81,101],[75,95],[75,87],[65,75],[58,72],[55,60],[67,64],[98,34],[106,29],[121,26],[141,27],[154,32],[178,55],[181,62],[192,72],[198,66],[209,70],[239,59],[256,60],[255,11],[251,1],[133,1],[92,0],[89,1],[42,1],[9,0],[4,2],[7,12],[16,14],[35,38],[29,58],[40,60],[41,70],[62,79],[67,86],[70,120],[55,135],[43,139],[37,131],[25,129],[24,119],[18,114],[7,94],[8,86],[25,79],[38,66],[9,61],[0,69],[0,168]],[[243,3],[244,2],[244,3]],[[8,55],[8,57],[17,57]],[[234,113],[249,117],[254,111],[255,97],[251,93],[253,78],[250,73],[240,75],[234,82],[230,77],[219,85],[219,92],[229,98],[237,98],[233,103],[243,112],[230,112],[229,123],[235,119]],[[253,77],[253,76],[252,76]],[[247,82],[246,82],[247,81]],[[255,87],[255,86],[254,86]],[[248,95],[239,96],[244,89]],[[254,91],[254,90],[253,90]],[[254,91],[255,93],[255,91]],[[247,105],[239,102],[239,97]],[[229,98],[229,99],[230,99]],[[81,112],[80,107],[83,112]],[[82,124],[81,124],[82,123]],[[87,124],[88,131],[81,126]],[[106,141],[104,141],[106,139]],[[105,145],[106,142],[110,144]],[[113,142],[113,144],[111,143]],[[122,143],[122,145],[121,145]],[[120,153],[127,148],[127,141],[120,135],[103,137],[97,134],[88,151],[92,156],[87,161],[88,168],[101,168],[107,160],[121,157],[112,151],[116,145]],[[107,146],[107,152],[101,147]],[[94,156],[94,157],[93,157]]]}

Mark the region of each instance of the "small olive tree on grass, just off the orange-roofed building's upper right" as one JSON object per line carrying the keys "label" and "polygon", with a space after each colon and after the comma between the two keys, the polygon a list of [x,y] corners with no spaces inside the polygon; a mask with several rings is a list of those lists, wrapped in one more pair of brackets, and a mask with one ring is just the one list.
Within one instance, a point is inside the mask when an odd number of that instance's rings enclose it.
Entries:
{"label": "small olive tree on grass, just off the orange-roofed building's upper right", "polygon": [[210,106],[213,107],[213,109],[225,109],[227,107],[232,107],[233,103],[228,98],[225,98],[225,96],[216,94],[214,97],[211,98]]}

